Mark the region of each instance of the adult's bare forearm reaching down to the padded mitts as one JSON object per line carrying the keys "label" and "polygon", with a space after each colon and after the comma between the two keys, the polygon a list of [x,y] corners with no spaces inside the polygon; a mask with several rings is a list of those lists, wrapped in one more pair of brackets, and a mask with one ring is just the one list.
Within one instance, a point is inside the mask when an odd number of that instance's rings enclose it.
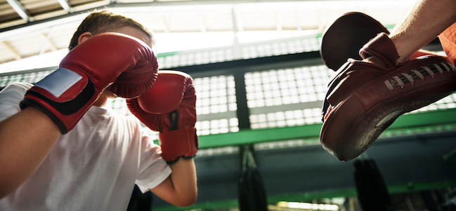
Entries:
{"label": "adult's bare forearm reaching down to the padded mitts", "polygon": [[436,39],[456,22],[456,0],[418,0],[389,35],[398,50],[398,63]]}

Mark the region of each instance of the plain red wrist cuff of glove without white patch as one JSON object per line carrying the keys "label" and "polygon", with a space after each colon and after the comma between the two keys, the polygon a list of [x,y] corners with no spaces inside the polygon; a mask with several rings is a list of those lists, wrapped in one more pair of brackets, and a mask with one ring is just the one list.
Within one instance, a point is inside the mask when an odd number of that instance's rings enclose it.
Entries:
{"label": "plain red wrist cuff of glove without white patch", "polygon": [[162,147],[162,158],[168,163],[175,163],[180,157],[193,158],[198,151],[196,128],[160,132],[158,137]]}

